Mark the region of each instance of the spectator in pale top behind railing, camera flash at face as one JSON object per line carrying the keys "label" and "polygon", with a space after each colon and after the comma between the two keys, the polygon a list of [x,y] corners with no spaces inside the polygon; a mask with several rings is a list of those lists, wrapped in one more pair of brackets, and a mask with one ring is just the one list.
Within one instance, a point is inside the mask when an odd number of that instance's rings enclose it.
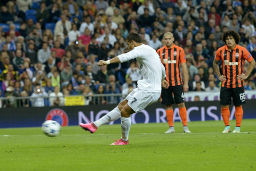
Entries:
{"label": "spectator in pale top behind railing, camera flash at face", "polygon": [[41,86],[37,84],[34,87],[34,93],[30,97],[32,107],[44,107],[44,97],[48,97],[48,94],[43,92]]}

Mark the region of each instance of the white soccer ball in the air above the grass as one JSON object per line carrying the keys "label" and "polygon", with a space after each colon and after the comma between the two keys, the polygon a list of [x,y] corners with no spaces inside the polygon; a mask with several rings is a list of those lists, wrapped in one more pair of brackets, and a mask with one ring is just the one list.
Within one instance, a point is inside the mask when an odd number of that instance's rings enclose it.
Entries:
{"label": "white soccer ball in the air above the grass", "polygon": [[57,123],[56,121],[45,121],[42,124],[42,130],[44,134],[46,134],[49,137],[56,137],[61,133],[61,125]]}

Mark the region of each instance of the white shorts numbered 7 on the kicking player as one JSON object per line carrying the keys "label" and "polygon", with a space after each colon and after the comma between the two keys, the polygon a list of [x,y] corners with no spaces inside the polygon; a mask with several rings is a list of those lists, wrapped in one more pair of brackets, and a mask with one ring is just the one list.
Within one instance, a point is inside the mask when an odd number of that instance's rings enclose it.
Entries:
{"label": "white shorts numbered 7 on the kicking player", "polygon": [[147,91],[142,91],[135,88],[127,97],[128,105],[135,111],[142,111],[148,105],[156,102],[161,93],[148,93]]}

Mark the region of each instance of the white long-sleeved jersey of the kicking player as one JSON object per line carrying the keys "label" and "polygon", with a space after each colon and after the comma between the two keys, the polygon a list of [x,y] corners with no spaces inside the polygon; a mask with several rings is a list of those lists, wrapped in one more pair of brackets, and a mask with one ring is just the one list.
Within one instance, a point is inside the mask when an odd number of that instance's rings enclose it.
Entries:
{"label": "white long-sleeved jersey of the kicking player", "polygon": [[135,47],[133,50],[118,56],[121,62],[136,58],[141,69],[143,80],[139,80],[138,88],[143,91],[161,93],[161,80],[166,77],[156,50],[147,45]]}

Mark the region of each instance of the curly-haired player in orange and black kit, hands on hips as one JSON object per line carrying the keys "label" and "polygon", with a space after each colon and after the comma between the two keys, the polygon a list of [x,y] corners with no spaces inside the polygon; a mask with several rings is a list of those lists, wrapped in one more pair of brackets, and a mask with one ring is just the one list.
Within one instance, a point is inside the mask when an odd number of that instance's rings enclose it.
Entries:
{"label": "curly-haired player in orange and black kit, hands on hips", "polygon": [[[231,132],[229,126],[230,112],[228,107],[228,105],[231,104],[231,98],[236,108],[236,127],[233,133],[240,133],[243,116],[242,104],[246,103],[244,80],[251,74],[255,66],[255,61],[246,48],[238,45],[240,36],[234,30],[224,32],[222,41],[226,45],[217,50],[213,67],[219,80],[222,81],[222,87],[220,88],[220,105],[222,106],[222,118],[226,126],[223,133]],[[223,64],[223,75],[220,74],[218,67],[220,59]],[[245,60],[247,60],[250,65],[246,74],[243,74]]]}

